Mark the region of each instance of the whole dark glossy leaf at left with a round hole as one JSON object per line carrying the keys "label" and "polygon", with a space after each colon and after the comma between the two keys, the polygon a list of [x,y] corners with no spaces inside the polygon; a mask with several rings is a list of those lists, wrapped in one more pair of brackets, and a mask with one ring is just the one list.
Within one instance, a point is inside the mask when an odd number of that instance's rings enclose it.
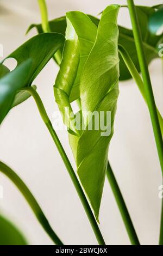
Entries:
{"label": "whole dark glossy leaf at left with a round hole", "polygon": [[28,99],[28,93],[17,91],[32,85],[36,76],[64,42],[64,35],[58,33],[36,35],[7,57],[17,60],[14,71],[9,72],[7,67],[0,65],[0,124],[11,107]]}

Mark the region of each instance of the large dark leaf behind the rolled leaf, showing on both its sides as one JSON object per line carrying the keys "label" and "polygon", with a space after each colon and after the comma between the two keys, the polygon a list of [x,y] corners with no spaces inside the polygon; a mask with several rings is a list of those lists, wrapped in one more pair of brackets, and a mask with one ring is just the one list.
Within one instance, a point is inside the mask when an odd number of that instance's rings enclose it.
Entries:
{"label": "large dark leaf behind the rolled leaf, showing on both its sides", "polygon": [[[151,60],[159,57],[157,46],[158,46],[158,43],[160,42],[161,36],[152,35],[151,33],[149,33],[149,30],[148,30],[149,17],[152,14],[154,14],[156,10],[154,9],[154,7],[143,7],[143,6],[137,6],[136,9],[137,9],[137,15],[141,23],[141,32],[142,32],[142,38],[144,41],[146,59],[149,64]],[[93,21],[93,23],[95,23],[95,25],[98,26],[99,19],[97,19],[96,17],[93,17],[92,15],[88,15],[88,16]],[[61,18],[49,21],[49,26],[51,27],[52,32],[59,32],[61,34],[65,34],[66,17],[61,17]],[[33,27],[36,27],[38,33],[42,32],[41,25],[31,25],[28,31]],[[120,30],[118,43],[122,45],[124,48],[126,48],[127,52],[129,53],[131,59],[134,62],[134,65],[136,66],[137,70],[140,72],[140,66],[139,66],[139,61],[137,59],[133,32],[130,29],[127,29],[125,27],[122,27],[122,26],[118,26],[118,27]],[[61,48],[60,50],[62,51]],[[131,78],[130,72],[128,71],[126,64],[123,62],[123,59],[120,56],[120,80],[127,80],[129,78]]]}

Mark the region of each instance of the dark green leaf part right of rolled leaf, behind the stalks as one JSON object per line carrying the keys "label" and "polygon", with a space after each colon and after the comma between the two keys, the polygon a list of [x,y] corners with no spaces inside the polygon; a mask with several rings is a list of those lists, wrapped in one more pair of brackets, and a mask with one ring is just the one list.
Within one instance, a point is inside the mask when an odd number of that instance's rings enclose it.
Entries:
{"label": "dark green leaf part right of rolled leaf, behind the stalks", "polygon": [[[161,39],[160,36],[152,35],[148,30],[149,17],[155,13],[155,9],[152,7],[137,6],[136,11],[139,22],[141,24],[140,29],[142,33],[143,45],[145,48],[147,63],[149,64],[154,58],[159,57],[157,46]],[[119,26],[119,29],[120,37],[118,44],[122,45],[126,49],[126,51],[129,53],[129,56],[133,60],[137,71],[140,72],[133,32],[130,29],[123,28],[121,26]],[[127,80],[130,77],[131,75],[126,65],[124,64],[122,57],[120,56],[120,80]]]}

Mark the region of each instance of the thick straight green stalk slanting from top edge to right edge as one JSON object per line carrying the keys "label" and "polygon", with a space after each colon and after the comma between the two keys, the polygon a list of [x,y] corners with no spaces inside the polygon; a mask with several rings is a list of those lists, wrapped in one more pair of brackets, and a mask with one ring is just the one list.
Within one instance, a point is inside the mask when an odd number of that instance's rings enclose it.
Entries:
{"label": "thick straight green stalk slanting from top edge to right edge", "polygon": [[[156,105],[155,105],[155,101],[154,101],[154,95],[153,95],[153,90],[152,90],[151,79],[149,76],[148,65],[147,65],[147,61],[146,61],[146,57],[145,57],[145,51],[143,49],[143,42],[142,42],[142,36],[141,36],[140,27],[139,27],[139,20],[137,18],[134,1],[127,0],[127,3],[128,3],[129,13],[130,13],[131,24],[133,27],[133,34],[134,34],[134,39],[135,39],[137,57],[139,59],[139,64],[140,64],[140,69],[141,69],[141,73],[142,73],[147,104],[148,104],[148,108],[149,108],[149,113],[151,115],[151,121],[152,121],[152,125],[153,125],[155,142],[156,142],[156,147],[158,149],[160,166],[161,166],[162,175],[163,175],[162,135],[161,135],[161,129],[160,129],[160,125],[159,125],[158,114],[156,111]],[[161,225],[163,223],[162,218],[163,218],[163,214],[161,214]],[[160,245],[163,245],[162,240],[163,240],[163,228],[161,227],[160,228]]]}

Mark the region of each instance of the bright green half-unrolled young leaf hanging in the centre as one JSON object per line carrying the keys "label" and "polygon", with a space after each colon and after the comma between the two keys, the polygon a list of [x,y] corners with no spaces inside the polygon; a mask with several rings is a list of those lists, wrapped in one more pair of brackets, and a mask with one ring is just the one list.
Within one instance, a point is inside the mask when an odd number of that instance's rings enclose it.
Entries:
{"label": "bright green half-unrolled young leaf hanging in the centre", "polygon": [[[90,18],[80,12],[66,14],[66,42],[63,51],[60,71],[55,81],[54,94],[60,111],[68,108],[65,124],[69,128],[70,144],[77,163],[78,175],[90,200],[98,221],[99,206],[103,192],[108,147],[113,133],[113,123],[118,97],[118,5],[105,9],[98,29]],[[81,29],[82,28],[82,29]],[[79,95],[82,109],[80,117],[84,118],[83,130],[78,132],[72,127],[70,117],[70,95],[76,81],[80,84]],[[93,118],[90,111],[104,113],[111,111],[111,120],[105,130],[92,130],[87,126]],[[69,121],[69,123],[68,123]],[[72,122],[72,123],[71,123]],[[79,120],[80,123],[80,120]],[[102,133],[110,129],[108,135]]]}

